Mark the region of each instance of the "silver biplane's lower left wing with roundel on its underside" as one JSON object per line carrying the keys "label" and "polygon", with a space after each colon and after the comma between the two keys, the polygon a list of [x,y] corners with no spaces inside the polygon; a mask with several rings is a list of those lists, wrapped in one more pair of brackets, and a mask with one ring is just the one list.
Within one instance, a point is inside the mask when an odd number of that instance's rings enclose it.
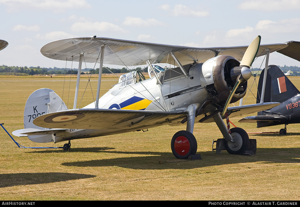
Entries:
{"label": "silver biplane's lower left wing with roundel on its underside", "polygon": [[150,128],[186,117],[185,111],[140,111],[122,109],[71,109],[41,115],[36,126],[67,129]]}

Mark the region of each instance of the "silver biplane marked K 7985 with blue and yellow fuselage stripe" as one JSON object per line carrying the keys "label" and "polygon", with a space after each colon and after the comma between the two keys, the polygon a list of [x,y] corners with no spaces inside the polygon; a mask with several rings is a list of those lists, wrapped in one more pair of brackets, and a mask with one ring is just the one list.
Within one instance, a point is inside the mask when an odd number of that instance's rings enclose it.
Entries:
{"label": "silver biplane marked K 7985 with blue and yellow fuselage stripe", "polygon": [[[231,154],[241,154],[249,137],[241,128],[230,133],[225,116],[242,116],[279,105],[278,102],[228,107],[246,94],[251,64],[257,56],[289,51],[292,42],[260,45],[260,36],[247,47],[194,48],[125,41],[110,38],[72,38],[46,44],[41,53],[51,59],[78,61],[73,109],[51,89],[33,92],[25,105],[24,128],[13,132],[34,142],[70,140],[146,130],[169,124],[186,124],[171,140],[175,157],[196,154],[195,123],[215,122]],[[83,58],[84,57],[84,58]],[[110,65],[148,65],[149,79],[139,72],[119,77],[101,98],[99,70],[96,101],[76,108],[82,60]],[[241,61],[241,62],[240,62]],[[160,67],[172,63],[175,68]],[[226,115],[227,114],[227,115]]]}

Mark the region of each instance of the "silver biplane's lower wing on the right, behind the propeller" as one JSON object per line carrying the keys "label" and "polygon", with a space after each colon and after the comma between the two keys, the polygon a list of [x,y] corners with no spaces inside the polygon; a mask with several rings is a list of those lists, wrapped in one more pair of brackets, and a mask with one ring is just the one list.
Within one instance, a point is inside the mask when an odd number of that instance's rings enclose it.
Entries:
{"label": "silver biplane's lower wing on the right, behind the propeller", "polygon": [[233,106],[233,107],[228,107],[227,114],[230,115],[230,117],[244,116],[246,114],[252,114],[257,111],[270,109],[278,105],[280,105],[280,103],[278,102],[266,102],[262,104],[259,103],[259,104],[250,104],[244,106]]}

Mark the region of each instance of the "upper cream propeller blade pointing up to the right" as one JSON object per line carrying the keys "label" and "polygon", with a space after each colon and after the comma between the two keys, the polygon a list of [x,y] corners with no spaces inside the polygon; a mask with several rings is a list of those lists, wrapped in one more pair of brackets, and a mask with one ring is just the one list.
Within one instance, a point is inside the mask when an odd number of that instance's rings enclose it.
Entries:
{"label": "upper cream propeller blade pointing up to the right", "polygon": [[246,66],[247,68],[251,67],[259,49],[260,38],[261,37],[258,35],[248,46],[246,52],[244,53],[240,66]]}

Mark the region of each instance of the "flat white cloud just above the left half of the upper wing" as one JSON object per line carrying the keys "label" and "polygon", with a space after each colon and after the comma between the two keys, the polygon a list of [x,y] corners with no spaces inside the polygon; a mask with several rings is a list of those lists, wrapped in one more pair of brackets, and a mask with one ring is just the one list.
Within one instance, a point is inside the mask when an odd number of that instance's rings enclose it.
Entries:
{"label": "flat white cloud just above the left half of the upper wing", "polygon": [[118,25],[109,22],[77,22],[71,26],[73,32],[98,31],[98,32],[126,32]]}

